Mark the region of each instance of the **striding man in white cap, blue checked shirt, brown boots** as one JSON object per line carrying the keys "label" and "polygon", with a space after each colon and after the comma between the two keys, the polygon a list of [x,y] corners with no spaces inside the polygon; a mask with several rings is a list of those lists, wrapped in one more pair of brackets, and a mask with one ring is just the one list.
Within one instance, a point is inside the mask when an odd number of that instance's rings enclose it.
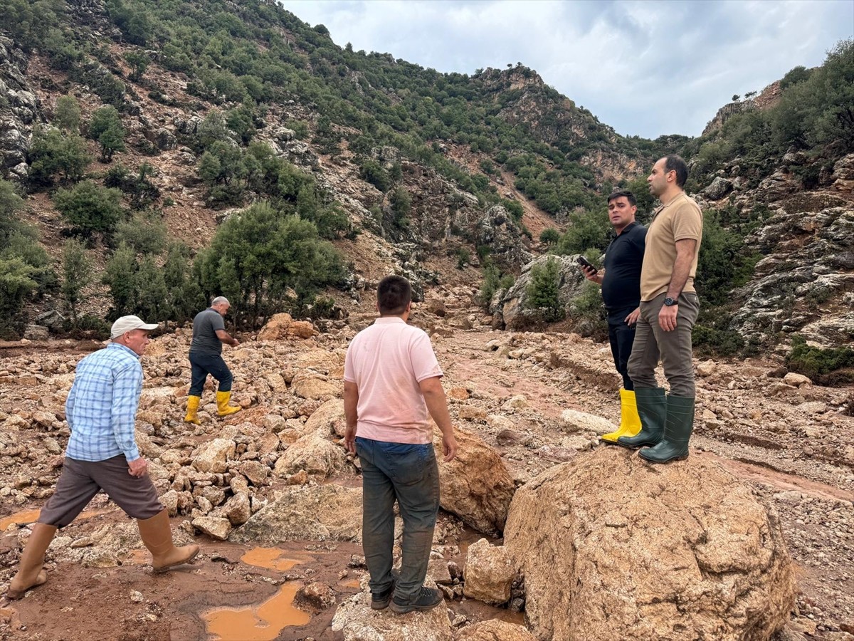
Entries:
{"label": "striding man in white cap, blue checked shirt, brown boots", "polygon": [[65,414],[71,438],[56,491],[44,504],[38,522],[20,555],[18,573],[7,597],[19,599],[42,585],[44,553],[56,534],[103,490],[126,515],[137,519],[143,544],[151,552],[155,572],[189,562],[198,545],[176,548],[166,509],[148,475],[148,462],[139,455],[134,432],[143,368],[139,357],[149,344],[156,324],[138,316],[122,316],[113,323],[106,349],[77,364]]}

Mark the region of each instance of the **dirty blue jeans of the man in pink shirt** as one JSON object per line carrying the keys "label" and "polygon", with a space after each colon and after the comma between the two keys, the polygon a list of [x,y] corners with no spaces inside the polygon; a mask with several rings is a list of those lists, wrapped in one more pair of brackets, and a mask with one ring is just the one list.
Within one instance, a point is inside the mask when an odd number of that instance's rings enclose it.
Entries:
{"label": "dirty blue jeans of the man in pink shirt", "polygon": [[391,585],[395,499],[403,520],[401,577],[395,597],[418,597],[439,512],[439,466],[433,444],[386,443],[356,438],[362,465],[362,547],[372,594]]}

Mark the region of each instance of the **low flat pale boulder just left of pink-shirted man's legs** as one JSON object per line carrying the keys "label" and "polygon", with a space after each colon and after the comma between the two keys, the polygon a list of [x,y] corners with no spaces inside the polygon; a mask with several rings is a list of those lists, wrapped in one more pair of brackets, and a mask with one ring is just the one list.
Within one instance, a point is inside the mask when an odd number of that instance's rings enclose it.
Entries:
{"label": "low flat pale boulder just left of pink-shirted man's legs", "polygon": [[362,490],[341,485],[295,485],[240,528],[231,540],[253,545],[283,541],[354,541],[362,538]]}

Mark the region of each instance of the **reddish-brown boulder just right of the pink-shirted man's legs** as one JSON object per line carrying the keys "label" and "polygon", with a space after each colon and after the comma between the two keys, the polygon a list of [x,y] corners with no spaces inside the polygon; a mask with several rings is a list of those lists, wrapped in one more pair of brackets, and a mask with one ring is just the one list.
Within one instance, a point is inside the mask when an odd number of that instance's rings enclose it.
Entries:
{"label": "reddish-brown boulder just right of the pink-shirted man's legs", "polygon": [[442,509],[479,532],[500,536],[516,491],[513,478],[498,453],[480,438],[459,427],[453,433],[459,447],[447,463],[442,461],[442,432],[436,430],[433,436]]}

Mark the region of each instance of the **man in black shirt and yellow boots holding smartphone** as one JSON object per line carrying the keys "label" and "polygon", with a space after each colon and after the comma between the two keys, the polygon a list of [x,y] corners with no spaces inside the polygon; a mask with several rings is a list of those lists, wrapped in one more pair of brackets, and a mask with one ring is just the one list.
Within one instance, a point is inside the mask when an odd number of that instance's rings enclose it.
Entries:
{"label": "man in black shirt and yellow boots holding smartphone", "polygon": [[617,237],[605,251],[605,269],[594,268],[579,256],[584,278],[602,285],[602,300],[608,310],[608,338],[617,372],[623,376],[620,390],[621,418],[616,432],[602,436],[606,443],[617,443],[621,436],[640,432],[640,417],[635,402],[635,385],[629,378],[629,356],[635,342],[635,326],[640,315],[640,267],[646,247],[646,228],[635,222],[637,206],[631,191],[615,191],[608,197],[608,218]]}

